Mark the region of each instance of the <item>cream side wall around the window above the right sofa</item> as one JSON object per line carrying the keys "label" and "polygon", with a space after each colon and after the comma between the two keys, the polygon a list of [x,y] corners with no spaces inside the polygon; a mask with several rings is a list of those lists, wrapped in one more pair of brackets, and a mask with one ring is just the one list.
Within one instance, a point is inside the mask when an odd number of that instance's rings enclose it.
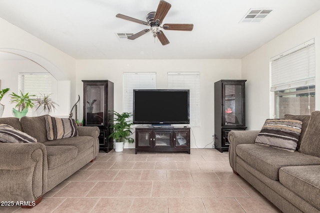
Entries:
{"label": "cream side wall around the window above the right sofa", "polygon": [[[265,119],[272,118],[273,105],[271,105],[272,99],[269,92],[269,61],[271,57],[314,38],[315,84],[320,85],[319,20],[320,10],[242,58],[241,77],[247,79],[246,121],[248,129],[259,130]],[[320,86],[315,87],[315,93],[320,94]],[[320,95],[315,97],[315,110],[320,110]]]}

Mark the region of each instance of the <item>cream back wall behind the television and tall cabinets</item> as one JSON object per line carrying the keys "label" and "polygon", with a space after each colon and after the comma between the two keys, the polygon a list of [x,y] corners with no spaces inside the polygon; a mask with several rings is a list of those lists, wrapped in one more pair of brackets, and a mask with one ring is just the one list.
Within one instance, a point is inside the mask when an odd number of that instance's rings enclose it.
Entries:
{"label": "cream back wall behind the television and tall cabinets", "polygon": [[[114,110],[117,112],[123,110],[123,72],[156,72],[157,89],[167,88],[167,72],[200,72],[200,127],[192,127],[195,139],[191,134],[191,147],[204,147],[212,141],[214,133],[213,83],[220,79],[240,79],[241,60],[76,60],[76,72],[76,94],[80,95],[81,103],[81,80],[106,79],[114,83]],[[79,117],[83,117],[82,105]]]}

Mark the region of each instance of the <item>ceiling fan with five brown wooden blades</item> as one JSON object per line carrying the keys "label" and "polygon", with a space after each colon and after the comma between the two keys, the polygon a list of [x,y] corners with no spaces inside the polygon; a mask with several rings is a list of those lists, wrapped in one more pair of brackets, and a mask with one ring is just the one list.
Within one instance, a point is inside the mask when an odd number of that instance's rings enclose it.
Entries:
{"label": "ceiling fan with five brown wooden blades", "polygon": [[140,32],[137,32],[131,36],[128,36],[128,39],[135,39],[137,37],[140,37],[141,35],[147,33],[151,30],[153,37],[157,37],[162,45],[170,43],[169,40],[165,37],[163,31],[160,28],[163,29],[169,29],[169,30],[186,30],[191,31],[193,29],[193,24],[180,24],[180,23],[165,23],[161,26],[162,20],[165,17],[166,13],[169,11],[171,7],[171,4],[164,0],[160,0],[159,5],[155,12],[149,12],[146,16],[146,21],[142,21],[136,18],[132,18],[126,15],[122,14],[116,14],[115,16],[118,18],[123,18],[125,20],[133,21],[136,23],[141,23],[144,25],[150,26],[149,29],[143,29]]}

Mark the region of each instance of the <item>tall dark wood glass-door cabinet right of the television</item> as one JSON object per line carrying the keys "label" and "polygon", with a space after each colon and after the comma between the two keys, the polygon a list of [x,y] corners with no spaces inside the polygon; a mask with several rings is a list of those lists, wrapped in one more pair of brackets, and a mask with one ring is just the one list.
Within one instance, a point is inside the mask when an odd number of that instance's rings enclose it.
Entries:
{"label": "tall dark wood glass-door cabinet right of the television", "polygon": [[228,133],[245,130],[245,81],[219,80],[214,83],[214,148],[228,151]]}

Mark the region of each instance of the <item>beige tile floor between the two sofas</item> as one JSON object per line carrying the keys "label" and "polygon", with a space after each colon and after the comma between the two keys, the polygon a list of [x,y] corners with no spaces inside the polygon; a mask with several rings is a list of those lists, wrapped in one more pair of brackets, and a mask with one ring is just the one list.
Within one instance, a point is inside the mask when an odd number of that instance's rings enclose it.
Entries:
{"label": "beige tile floor between the two sofas", "polygon": [[0,213],[279,213],[241,177],[228,153],[100,152],[33,209]]}

